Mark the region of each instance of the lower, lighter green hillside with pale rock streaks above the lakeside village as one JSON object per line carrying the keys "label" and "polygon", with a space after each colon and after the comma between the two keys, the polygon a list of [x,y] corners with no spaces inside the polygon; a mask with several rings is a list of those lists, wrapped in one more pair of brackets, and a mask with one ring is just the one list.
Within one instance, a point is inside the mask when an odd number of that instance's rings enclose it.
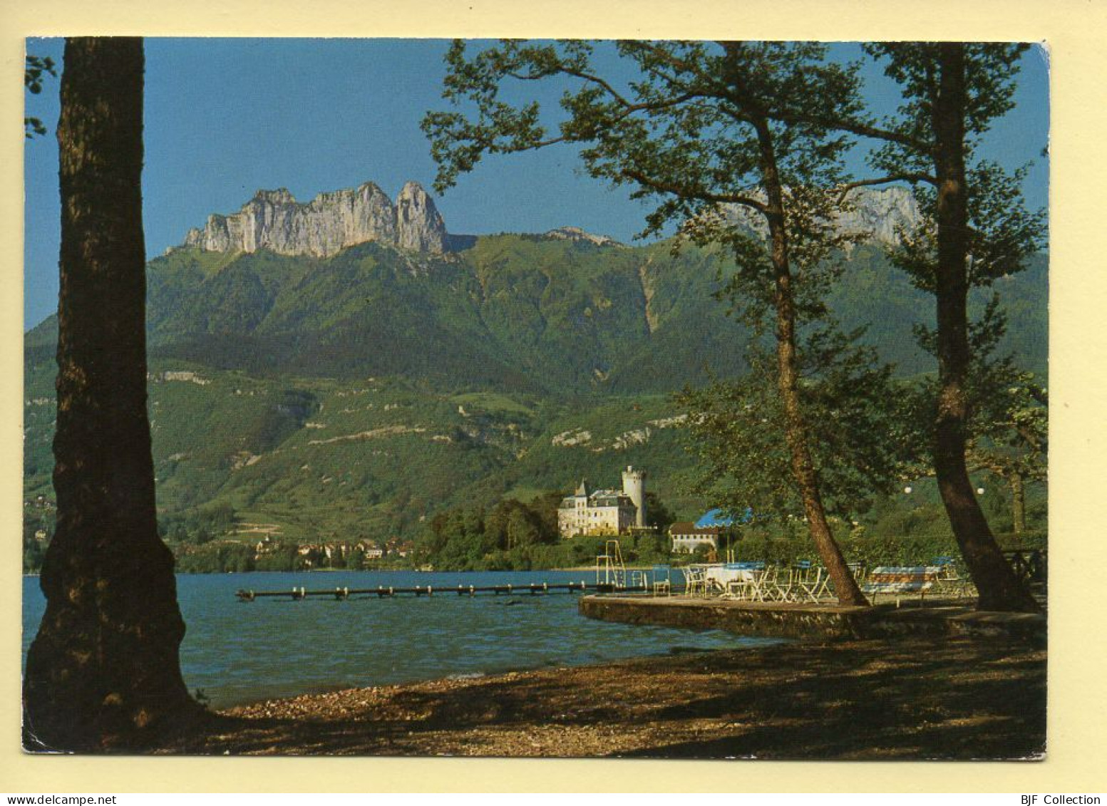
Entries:
{"label": "lower, lighter green hillside with pale rock streaks above the lakeside village", "polygon": [[[29,394],[49,376],[33,372]],[[650,424],[673,416],[663,395],[565,403],[164,360],[151,378],[159,509],[229,505],[290,539],[410,535],[451,506],[526,498],[582,476],[615,486],[625,464],[650,466],[651,489],[679,500],[677,468],[689,465],[672,424]],[[25,494],[52,497],[54,403],[43,392],[25,409]],[[700,502],[689,504],[691,516]]]}

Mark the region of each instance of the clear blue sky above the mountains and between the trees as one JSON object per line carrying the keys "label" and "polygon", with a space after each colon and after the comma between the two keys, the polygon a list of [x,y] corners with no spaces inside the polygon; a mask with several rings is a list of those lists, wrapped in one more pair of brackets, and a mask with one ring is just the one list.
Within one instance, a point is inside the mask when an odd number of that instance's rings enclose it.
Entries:
{"label": "clear blue sky above the mountains and between the trees", "polygon": [[[427,189],[435,166],[418,128],[443,108],[445,40],[147,39],[143,218],[149,257],[179,244],[211,213],[234,213],[259,188],[287,187],[300,200],[375,182],[390,196],[414,179]],[[30,40],[28,52],[62,62],[62,41]],[[842,58],[856,48],[835,46]],[[614,60],[609,69],[618,70]],[[894,86],[868,70],[878,112]],[[28,114],[50,128],[25,146],[24,326],[58,301],[56,80],[28,95]],[[1034,161],[1025,193],[1047,203],[1047,66],[1039,49],[1023,59],[1017,106],[989,133],[983,153],[1007,167]],[[532,87],[528,87],[532,89]],[[556,102],[550,91],[544,100]],[[850,166],[865,174],[863,155]],[[646,208],[580,169],[558,146],[487,158],[436,198],[457,234],[540,232],[575,225],[630,241]]]}

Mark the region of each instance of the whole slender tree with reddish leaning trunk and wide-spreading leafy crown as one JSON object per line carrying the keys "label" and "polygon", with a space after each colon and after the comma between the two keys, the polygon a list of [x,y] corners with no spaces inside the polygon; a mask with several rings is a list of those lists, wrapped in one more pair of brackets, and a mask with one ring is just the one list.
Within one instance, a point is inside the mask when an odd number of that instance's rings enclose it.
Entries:
{"label": "whole slender tree with reddish leaning trunk and wide-spreading leafy crown", "polygon": [[[850,138],[826,121],[860,113],[856,69],[826,61],[826,48],[810,42],[614,48],[632,79],[601,75],[586,42],[503,42],[472,58],[455,42],[444,96],[469,108],[424,118],[436,187],[486,153],[573,143],[592,176],[656,203],[644,234],[676,221],[691,240],[726,246],[737,271],[724,293],[755,326],[772,320],[783,436],[811,537],[839,595],[863,601],[820,500],[797,354],[797,328],[826,314],[825,292],[841,270],[835,254],[852,239],[834,226]],[[510,81],[550,79],[566,82],[556,134],[537,103],[513,105],[500,94]]]}

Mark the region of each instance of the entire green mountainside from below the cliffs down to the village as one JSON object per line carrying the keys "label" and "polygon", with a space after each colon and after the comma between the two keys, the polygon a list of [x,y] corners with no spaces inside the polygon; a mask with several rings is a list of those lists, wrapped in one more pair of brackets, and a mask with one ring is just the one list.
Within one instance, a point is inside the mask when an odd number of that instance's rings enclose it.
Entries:
{"label": "entire green mountainside from below the cliffs down to the village", "polygon": [[[695,248],[520,235],[435,257],[170,252],[148,269],[159,509],[232,510],[241,540],[412,536],[447,508],[613,486],[633,464],[699,515],[671,393],[744,370],[748,333],[713,298],[726,271]],[[1043,373],[1045,257],[996,290],[1005,349]],[[932,300],[879,250],[855,250],[831,303],[901,375],[931,370],[911,328]],[[55,341],[54,318],[25,338],[29,500],[52,497]]]}

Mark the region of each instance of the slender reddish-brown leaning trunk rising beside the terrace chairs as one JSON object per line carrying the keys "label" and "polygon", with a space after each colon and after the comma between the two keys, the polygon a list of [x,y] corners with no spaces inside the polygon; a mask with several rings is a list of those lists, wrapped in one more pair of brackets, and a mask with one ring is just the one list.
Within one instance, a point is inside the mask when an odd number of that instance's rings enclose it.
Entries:
{"label": "slender reddish-brown leaning trunk rising beside the terrace chairs", "polygon": [[799,372],[796,356],[796,306],[792,290],[792,269],[788,260],[788,237],[784,219],[784,188],[776,166],[776,154],[768,124],[755,124],[762,153],[762,174],[768,203],[769,239],[776,288],[776,359],[777,385],[784,406],[785,435],[792,458],[792,473],[799,488],[807,517],[807,528],[815,548],[834,582],[841,604],[868,604],[857,580],[846,565],[846,558],[834,539],[827,523],[818,474],[808,447],[807,425],[799,402]]}

